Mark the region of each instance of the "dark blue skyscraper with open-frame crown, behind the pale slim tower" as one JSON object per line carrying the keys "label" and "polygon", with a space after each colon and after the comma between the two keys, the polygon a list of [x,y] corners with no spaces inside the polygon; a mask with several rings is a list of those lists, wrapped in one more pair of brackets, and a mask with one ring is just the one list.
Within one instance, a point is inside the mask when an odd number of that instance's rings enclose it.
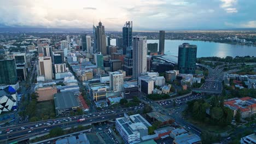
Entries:
{"label": "dark blue skyscraper with open-frame crown, behind the pale slim tower", "polygon": [[126,21],[123,27],[123,48],[124,55],[126,55],[126,49],[132,45],[132,21]]}

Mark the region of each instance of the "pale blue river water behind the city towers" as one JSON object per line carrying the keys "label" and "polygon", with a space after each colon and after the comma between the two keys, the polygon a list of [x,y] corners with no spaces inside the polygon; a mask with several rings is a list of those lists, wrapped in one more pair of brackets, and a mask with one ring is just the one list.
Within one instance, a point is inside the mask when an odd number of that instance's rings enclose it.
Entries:
{"label": "pale blue river water behind the city towers", "polygon": [[[159,40],[148,39],[147,43],[159,43]],[[165,54],[169,56],[178,56],[178,46],[183,43],[197,45],[197,57],[256,56],[256,46],[170,39],[165,40]],[[115,45],[115,39],[112,39],[110,44]]]}

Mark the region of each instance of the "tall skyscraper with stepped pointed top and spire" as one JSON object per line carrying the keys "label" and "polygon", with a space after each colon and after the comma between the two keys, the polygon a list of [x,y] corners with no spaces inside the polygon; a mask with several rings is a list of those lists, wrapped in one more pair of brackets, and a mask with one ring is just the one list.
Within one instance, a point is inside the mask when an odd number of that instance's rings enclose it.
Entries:
{"label": "tall skyscraper with stepped pointed top and spire", "polygon": [[103,56],[107,55],[106,35],[101,22],[98,23],[96,28],[96,49],[97,52],[101,52]]}

